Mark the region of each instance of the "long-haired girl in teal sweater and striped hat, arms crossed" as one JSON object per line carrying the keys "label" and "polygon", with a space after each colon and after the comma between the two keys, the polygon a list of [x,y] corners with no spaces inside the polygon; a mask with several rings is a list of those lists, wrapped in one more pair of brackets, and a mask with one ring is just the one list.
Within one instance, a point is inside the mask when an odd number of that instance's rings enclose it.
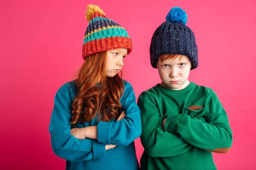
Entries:
{"label": "long-haired girl in teal sweater and striped hat, arms crossed", "polygon": [[119,76],[131,38],[99,6],[87,6],[86,18],[84,63],[54,99],[52,150],[67,160],[66,170],[137,170],[140,109],[131,84]]}

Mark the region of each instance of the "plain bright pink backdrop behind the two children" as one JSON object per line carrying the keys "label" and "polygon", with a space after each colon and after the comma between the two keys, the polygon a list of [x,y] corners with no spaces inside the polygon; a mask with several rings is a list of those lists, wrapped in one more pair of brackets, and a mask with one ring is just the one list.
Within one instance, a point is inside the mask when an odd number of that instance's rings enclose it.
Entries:
{"label": "plain bright pink backdrop behind the two children", "polygon": [[[218,170],[256,169],[256,1],[254,0],[5,0],[0,5],[0,169],[63,170],[48,132],[58,88],[82,64],[89,3],[121,24],[134,50],[123,78],[142,91],[160,82],[149,61],[154,30],[174,6],[188,14],[199,66],[189,80],[213,88],[233,129],[233,147],[214,154]],[[136,140],[140,159],[143,147]]]}

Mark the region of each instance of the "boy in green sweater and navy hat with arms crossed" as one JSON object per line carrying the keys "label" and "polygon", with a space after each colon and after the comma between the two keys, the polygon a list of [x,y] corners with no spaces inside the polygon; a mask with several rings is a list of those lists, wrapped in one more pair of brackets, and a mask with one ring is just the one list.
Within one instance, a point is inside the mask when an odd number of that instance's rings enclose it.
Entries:
{"label": "boy in green sweater and navy hat with arms crossed", "polygon": [[198,49],[186,19],[185,11],[172,8],[151,40],[151,65],[162,82],[138,99],[142,170],[216,170],[212,152],[227,153],[232,145],[218,96],[188,80],[198,66]]}

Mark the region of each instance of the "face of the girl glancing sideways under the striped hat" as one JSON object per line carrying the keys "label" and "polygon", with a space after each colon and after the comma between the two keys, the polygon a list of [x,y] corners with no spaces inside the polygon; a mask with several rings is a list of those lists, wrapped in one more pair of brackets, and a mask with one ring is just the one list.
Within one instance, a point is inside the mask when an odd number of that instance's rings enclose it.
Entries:
{"label": "face of the girl glancing sideways under the striped hat", "polygon": [[114,77],[124,65],[124,58],[127,56],[126,48],[117,48],[107,51],[106,75]]}

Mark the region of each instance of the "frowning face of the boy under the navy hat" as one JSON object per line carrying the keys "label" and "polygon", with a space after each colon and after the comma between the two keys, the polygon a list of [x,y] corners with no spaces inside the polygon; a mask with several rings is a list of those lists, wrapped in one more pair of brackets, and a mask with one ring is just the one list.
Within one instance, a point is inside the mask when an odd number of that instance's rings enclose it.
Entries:
{"label": "frowning face of the boy under the navy hat", "polygon": [[190,68],[191,62],[187,56],[178,55],[175,59],[166,59],[163,62],[157,59],[161,85],[172,90],[181,90],[189,85]]}

